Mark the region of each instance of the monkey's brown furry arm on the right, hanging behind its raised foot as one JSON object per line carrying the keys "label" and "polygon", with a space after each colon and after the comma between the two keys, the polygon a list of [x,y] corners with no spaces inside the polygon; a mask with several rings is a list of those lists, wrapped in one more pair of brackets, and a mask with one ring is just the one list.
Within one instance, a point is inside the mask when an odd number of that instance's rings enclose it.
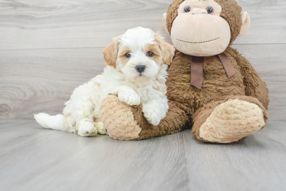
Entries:
{"label": "monkey's brown furry arm on the right, hanging behind its raised foot", "polygon": [[233,49],[233,51],[236,55],[237,64],[240,66],[240,72],[244,76],[245,95],[256,97],[267,109],[269,98],[266,83],[245,57],[241,56],[237,50]]}

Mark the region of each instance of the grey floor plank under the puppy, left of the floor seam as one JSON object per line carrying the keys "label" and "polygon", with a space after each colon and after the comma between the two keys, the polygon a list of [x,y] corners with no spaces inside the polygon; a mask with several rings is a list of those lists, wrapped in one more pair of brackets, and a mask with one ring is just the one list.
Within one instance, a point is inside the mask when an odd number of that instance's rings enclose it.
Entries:
{"label": "grey floor plank under the puppy, left of the floor seam", "polygon": [[188,190],[181,134],[118,141],[34,120],[0,124],[1,190]]}

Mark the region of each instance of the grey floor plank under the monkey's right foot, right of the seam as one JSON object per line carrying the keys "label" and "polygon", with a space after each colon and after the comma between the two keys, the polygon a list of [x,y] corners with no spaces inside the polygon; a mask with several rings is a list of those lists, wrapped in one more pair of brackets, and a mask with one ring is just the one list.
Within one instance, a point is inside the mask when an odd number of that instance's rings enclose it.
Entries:
{"label": "grey floor plank under the monkey's right foot, right of the seam", "polygon": [[285,190],[285,121],[233,144],[202,143],[185,131],[190,190]]}

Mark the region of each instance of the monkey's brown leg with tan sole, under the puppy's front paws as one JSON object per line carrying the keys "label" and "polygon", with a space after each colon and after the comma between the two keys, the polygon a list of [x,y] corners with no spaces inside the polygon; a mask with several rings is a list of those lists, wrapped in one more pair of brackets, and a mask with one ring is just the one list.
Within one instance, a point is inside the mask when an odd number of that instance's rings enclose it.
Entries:
{"label": "monkey's brown leg with tan sole, under the puppy's front paws", "polygon": [[114,95],[107,96],[100,108],[101,120],[109,136],[121,140],[139,140],[179,132],[188,117],[178,103],[169,101],[169,111],[158,126],[151,125],[142,111],[142,105],[128,106]]}

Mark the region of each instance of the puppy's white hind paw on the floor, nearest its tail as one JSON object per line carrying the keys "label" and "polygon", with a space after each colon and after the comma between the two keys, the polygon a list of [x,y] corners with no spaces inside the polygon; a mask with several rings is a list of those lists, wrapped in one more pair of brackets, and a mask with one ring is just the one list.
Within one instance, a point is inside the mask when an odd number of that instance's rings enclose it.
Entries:
{"label": "puppy's white hind paw on the floor, nearest its tail", "polygon": [[94,122],[89,121],[88,118],[81,119],[78,134],[80,136],[96,136],[97,128],[94,126]]}

